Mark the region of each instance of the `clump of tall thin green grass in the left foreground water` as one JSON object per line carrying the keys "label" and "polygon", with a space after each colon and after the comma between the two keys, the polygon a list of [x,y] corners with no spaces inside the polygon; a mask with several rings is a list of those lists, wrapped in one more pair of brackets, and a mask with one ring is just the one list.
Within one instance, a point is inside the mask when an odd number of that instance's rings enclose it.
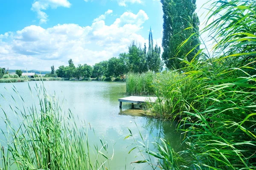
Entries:
{"label": "clump of tall thin green grass in the left foreground water", "polygon": [[[30,86],[29,89],[32,91]],[[13,90],[19,96],[15,87]],[[113,156],[108,154],[108,144],[100,140],[100,145],[91,146],[88,128],[76,123],[70,110],[62,110],[63,101],[47,94],[42,84],[36,85],[35,90],[38,99],[32,99],[38,103],[26,106],[19,96],[23,104],[10,105],[18,124],[12,123],[1,107],[6,124],[6,130],[2,129],[5,139],[0,152],[3,169],[110,169]]]}

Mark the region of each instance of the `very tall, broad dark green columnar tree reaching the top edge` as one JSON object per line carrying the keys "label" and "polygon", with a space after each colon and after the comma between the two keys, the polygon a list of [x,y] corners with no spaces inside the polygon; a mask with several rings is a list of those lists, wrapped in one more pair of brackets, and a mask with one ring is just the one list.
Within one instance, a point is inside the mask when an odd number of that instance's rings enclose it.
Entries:
{"label": "very tall, broad dark green columnar tree reaching the top edge", "polygon": [[[183,65],[180,64],[180,60],[173,58],[184,59],[186,57],[188,61],[191,61],[199,50],[198,26],[200,22],[195,13],[196,0],[161,0],[161,3],[163,4],[162,58],[167,68],[182,68]],[[186,29],[189,27],[194,28]],[[189,42],[182,49],[178,50],[179,45],[193,33],[195,35]],[[195,50],[188,54],[193,48]]]}

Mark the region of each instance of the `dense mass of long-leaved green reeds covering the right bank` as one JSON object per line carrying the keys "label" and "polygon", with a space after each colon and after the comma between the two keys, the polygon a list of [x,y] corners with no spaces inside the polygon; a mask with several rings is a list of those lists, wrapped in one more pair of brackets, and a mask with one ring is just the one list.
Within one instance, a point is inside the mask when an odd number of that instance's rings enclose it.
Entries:
{"label": "dense mass of long-leaved green reeds covering the right bank", "polygon": [[[175,4],[169,5],[163,4],[163,8],[172,11]],[[175,153],[163,141],[157,145],[159,152],[151,154],[160,159],[158,165],[163,169],[256,169],[255,8],[255,1],[213,2],[202,31],[211,34],[212,50],[200,49],[190,59],[191,51],[168,55],[170,60],[180,61],[179,67],[170,63],[171,71],[145,83],[159,99],[148,105],[151,112],[163,119],[178,119],[178,130],[186,134],[186,150]],[[175,51],[186,49],[194,36],[184,39]],[[127,86],[137,85],[139,81]],[[141,147],[148,154],[146,145]]]}

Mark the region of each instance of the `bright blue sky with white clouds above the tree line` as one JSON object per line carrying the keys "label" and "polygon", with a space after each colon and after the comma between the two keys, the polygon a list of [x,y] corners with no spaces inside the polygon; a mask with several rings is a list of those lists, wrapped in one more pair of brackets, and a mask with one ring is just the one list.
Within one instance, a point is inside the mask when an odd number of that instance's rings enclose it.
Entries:
{"label": "bright blue sky with white clouds above the tree line", "polygon": [[150,27],[161,45],[162,17],[159,0],[0,0],[0,67],[47,71],[70,58],[93,65],[132,40],[148,44]]}

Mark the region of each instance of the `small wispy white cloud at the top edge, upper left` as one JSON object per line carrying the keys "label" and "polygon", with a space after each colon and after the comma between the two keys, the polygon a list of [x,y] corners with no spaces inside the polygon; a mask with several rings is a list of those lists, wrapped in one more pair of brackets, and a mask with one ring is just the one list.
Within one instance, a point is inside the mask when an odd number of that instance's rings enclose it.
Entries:
{"label": "small wispy white cloud at the top edge, upper left", "polygon": [[69,8],[71,3],[68,0],[36,0],[32,4],[32,11],[35,11],[38,14],[38,18],[40,19],[40,23],[46,23],[48,15],[42,11],[49,8],[55,9],[59,6]]}

